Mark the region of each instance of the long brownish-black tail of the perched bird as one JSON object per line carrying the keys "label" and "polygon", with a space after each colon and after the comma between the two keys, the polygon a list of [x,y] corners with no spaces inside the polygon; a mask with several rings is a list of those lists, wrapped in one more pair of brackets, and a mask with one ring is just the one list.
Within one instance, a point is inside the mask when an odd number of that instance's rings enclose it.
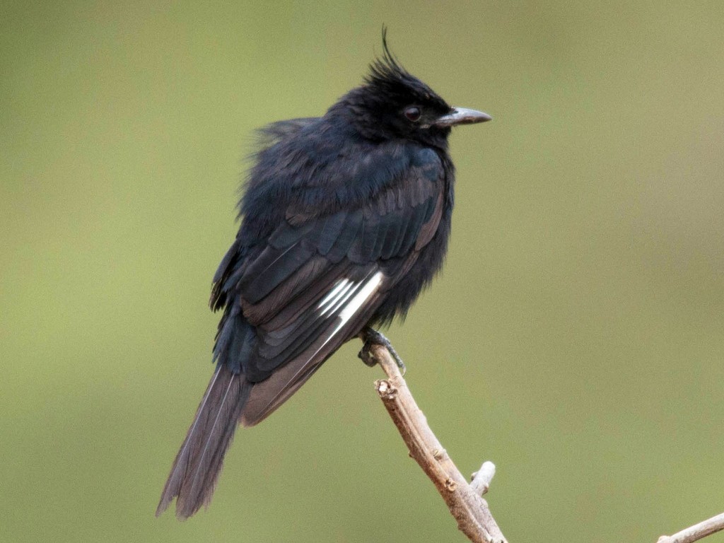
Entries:
{"label": "long brownish-black tail of the perched bird", "polygon": [[176,516],[188,518],[209,505],[224,454],[231,445],[251,383],[219,364],[176,455],[156,516],[176,500]]}

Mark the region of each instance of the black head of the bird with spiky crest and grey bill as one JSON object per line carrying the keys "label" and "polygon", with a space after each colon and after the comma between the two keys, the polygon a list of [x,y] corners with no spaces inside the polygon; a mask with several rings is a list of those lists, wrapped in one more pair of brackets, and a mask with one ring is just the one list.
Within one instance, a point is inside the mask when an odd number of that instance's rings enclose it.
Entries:
{"label": "black head of the bird with spiky crest and grey bill", "polygon": [[403,138],[443,146],[455,125],[489,121],[482,111],[453,107],[432,88],[403,68],[387,46],[369,67],[364,84],[351,90],[330,109],[341,113],[366,138]]}

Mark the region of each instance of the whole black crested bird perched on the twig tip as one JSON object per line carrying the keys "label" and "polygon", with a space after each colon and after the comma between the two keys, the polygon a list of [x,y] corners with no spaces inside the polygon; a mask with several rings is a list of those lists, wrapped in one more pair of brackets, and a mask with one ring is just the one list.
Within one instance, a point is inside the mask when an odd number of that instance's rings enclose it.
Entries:
{"label": "whole black crested bird perched on the twig tip", "polygon": [[156,515],[211,500],[237,424],[264,420],[342,343],[404,316],[447,251],[447,136],[487,114],[452,107],[384,54],[322,117],[274,122],[214,275],[216,369]]}

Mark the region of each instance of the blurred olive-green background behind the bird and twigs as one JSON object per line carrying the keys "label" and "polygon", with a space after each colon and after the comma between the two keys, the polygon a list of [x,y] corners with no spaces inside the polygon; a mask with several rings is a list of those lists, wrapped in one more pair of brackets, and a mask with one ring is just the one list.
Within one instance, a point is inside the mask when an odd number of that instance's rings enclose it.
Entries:
{"label": "blurred olive-green background behind the bird and twigs", "polygon": [[461,471],[497,464],[503,532],[654,542],[723,509],[720,1],[4,1],[3,541],[464,540],[358,344],[237,434],[209,510],[153,517],[253,129],[322,114],[383,22],[494,117],[451,138],[447,267],[390,337]]}

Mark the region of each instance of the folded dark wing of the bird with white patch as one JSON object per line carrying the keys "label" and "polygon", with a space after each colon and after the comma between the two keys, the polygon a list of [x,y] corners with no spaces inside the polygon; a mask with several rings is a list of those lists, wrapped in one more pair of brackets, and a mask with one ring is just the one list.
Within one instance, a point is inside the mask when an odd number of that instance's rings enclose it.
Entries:
{"label": "folded dark wing of the bird with white patch", "polygon": [[228,258],[216,290],[233,285],[256,328],[241,368],[254,383],[245,426],[284,403],[374,316],[437,232],[444,183],[437,153],[425,150],[369,200],[337,211],[289,206],[263,246]]}

